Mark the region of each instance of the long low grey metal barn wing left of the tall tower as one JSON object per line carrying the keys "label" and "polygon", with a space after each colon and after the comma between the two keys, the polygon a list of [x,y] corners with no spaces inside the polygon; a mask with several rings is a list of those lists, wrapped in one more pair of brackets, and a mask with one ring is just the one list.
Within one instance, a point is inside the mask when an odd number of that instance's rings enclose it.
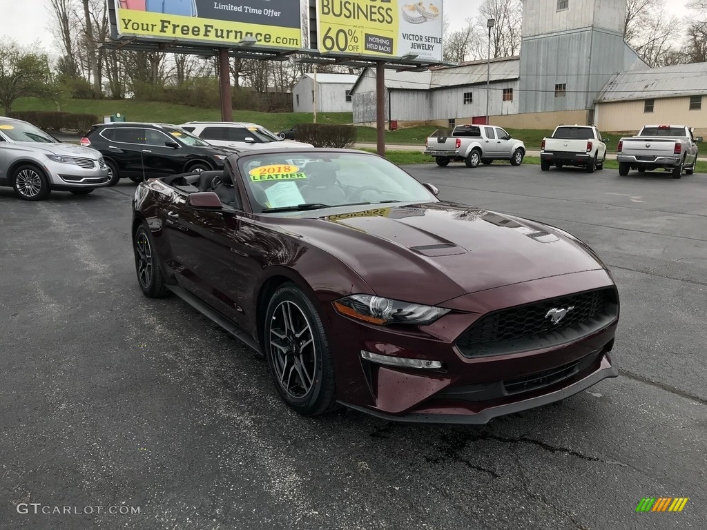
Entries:
{"label": "long low grey metal barn wing left of the tall tower", "polygon": [[[489,114],[518,113],[518,57],[491,61]],[[486,117],[486,61],[424,72],[385,72],[385,115],[389,121],[483,122]],[[375,122],[375,70],[365,69],[352,88],[354,122]]]}

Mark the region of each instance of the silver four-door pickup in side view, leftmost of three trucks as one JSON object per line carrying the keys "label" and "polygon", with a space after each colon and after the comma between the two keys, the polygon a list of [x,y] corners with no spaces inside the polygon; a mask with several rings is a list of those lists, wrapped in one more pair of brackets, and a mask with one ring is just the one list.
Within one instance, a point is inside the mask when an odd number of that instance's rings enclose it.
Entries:
{"label": "silver four-door pickup in side view, leftmost of three trucks", "polygon": [[525,157],[525,143],[513,139],[501,127],[457,125],[451,136],[448,129],[435,131],[425,142],[425,154],[432,155],[440,167],[462,160],[467,167],[489,165],[493,160],[520,165]]}

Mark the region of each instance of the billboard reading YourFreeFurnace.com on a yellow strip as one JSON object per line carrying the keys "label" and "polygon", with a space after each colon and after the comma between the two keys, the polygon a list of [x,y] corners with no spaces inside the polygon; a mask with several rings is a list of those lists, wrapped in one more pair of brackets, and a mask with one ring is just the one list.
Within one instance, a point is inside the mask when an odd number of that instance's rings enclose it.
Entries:
{"label": "billboard reading YourFreeFurnace.com on a yellow strip", "polygon": [[300,0],[115,0],[117,35],[233,46],[302,47]]}

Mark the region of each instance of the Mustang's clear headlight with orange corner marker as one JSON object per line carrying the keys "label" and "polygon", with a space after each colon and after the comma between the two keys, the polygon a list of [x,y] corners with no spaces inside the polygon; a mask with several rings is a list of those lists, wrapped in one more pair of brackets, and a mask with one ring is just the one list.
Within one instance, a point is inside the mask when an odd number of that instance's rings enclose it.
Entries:
{"label": "Mustang's clear headlight with orange corner marker", "polygon": [[350,295],[334,302],[334,307],[347,317],[369,324],[432,324],[450,312],[442,307],[412,304],[373,295]]}

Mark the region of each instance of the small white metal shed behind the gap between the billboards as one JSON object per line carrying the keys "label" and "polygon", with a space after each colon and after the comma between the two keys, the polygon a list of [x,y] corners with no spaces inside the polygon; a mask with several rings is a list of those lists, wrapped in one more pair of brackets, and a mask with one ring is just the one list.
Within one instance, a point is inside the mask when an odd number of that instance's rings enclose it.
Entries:
{"label": "small white metal shed behind the gap between the billboards", "polygon": [[[358,76],[351,73],[317,74],[317,112],[352,112],[351,87]],[[305,73],[292,88],[294,112],[314,111],[314,74]]]}

